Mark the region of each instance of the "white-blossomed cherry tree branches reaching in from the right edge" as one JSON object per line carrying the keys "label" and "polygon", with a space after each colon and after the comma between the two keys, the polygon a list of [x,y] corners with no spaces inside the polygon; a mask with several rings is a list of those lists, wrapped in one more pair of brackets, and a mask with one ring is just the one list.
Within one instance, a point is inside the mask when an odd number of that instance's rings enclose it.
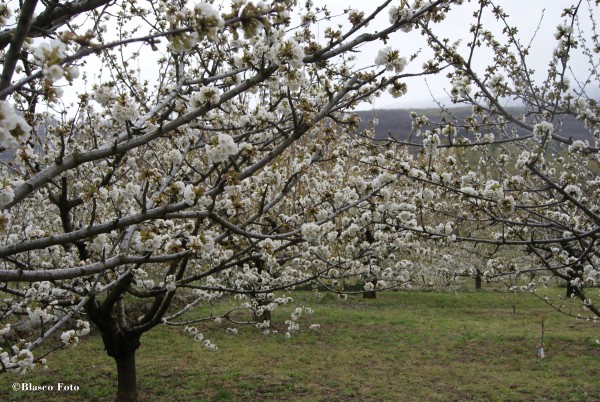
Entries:
{"label": "white-blossomed cherry tree branches reaching in from the right edge", "polygon": [[[552,38],[527,43],[499,3],[478,2],[466,43],[437,34],[435,21],[417,22],[433,50],[424,67],[449,66],[449,95],[471,113],[460,119],[446,109],[441,123],[414,114],[422,143],[396,143],[420,148],[421,160],[395,169],[435,194],[419,208],[451,225],[452,241],[493,249],[484,278],[540,273],[520,287],[531,292],[559,278],[567,296],[598,319],[598,1],[566,5]],[[555,41],[547,71],[532,68],[535,40]],[[573,138],[573,124],[585,138]],[[439,235],[423,227],[423,236]],[[524,258],[509,263],[506,249]],[[561,309],[560,301],[546,301]]]}

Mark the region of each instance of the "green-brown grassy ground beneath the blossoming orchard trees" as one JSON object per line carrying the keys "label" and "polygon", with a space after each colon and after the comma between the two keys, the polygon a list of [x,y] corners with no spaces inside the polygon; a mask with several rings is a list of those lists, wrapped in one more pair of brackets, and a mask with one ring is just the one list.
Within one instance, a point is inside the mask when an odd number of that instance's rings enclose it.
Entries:
{"label": "green-brown grassy ground beneath the blossoming orchard trees", "polygon": [[[564,290],[554,290],[562,292]],[[339,301],[293,294],[315,314],[292,337],[202,328],[210,352],[161,327],[142,338],[146,401],[593,401],[600,400],[600,324],[499,292],[379,294]],[[514,307],[514,309],[513,309]],[[516,314],[513,314],[516,312]],[[289,314],[289,312],[288,312]],[[540,316],[546,358],[536,357]],[[289,317],[289,315],[287,316]],[[276,315],[284,328],[286,316]],[[311,323],[321,329],[308,331]],[[0,376],[0,400],[112,400],[116,375],[98,337],[59,351],[48,370]],[[12,391],[13,382],[75,384],[77,392]]]}

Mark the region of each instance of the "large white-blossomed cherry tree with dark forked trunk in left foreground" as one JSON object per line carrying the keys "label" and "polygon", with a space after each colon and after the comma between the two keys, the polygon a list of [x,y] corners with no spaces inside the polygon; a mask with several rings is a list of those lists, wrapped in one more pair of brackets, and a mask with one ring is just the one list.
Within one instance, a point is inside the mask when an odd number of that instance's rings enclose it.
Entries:
{"label": "large white-blossomed cherry tree with dark forked trunk in left foreground", "polygon": [[[268,329],[289,301],[275,290],[405,284],[393,259],[364,271],[411,239],[386,221],[394,203],[378,205],[398,178],[345,136],[347,111],[435,69],[404,71],[393,47],[370,66],[355,54],[461,2],[392,3],[347,10],[324,38],[312,27],[329,11],[294,0],[2,4],[2,371],[45,364],[41,344],[75,346],[93,326],[117,399],[135,400],[145,332],[181,325],[216,349],[184,318],[195,306],[246,297]],[[379,14],[389,23],[369,31]]]}

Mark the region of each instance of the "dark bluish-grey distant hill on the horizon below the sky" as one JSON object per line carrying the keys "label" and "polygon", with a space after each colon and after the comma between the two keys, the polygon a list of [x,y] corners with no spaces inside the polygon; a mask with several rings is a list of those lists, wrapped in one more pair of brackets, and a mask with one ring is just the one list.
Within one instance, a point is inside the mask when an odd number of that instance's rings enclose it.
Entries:
{"label": "dark bluish-grey distant hill on the horizon below the sky", "polygon": [[[459,120],[464,120],[471,115],[470,108],[450,109],[452,114]],[[425,115],[431,122],[441,123],[442,116],[439,109],[415,109],[419,115]],[[514,113],[522,113],[522,109],[514,108]],[[375,138],[385,139],[390,136],[402,141],[419,142],[420,139],[414,138],[412,133],[411,110],[408,109],[376,109],[372,111],[355,112],[362,120],[360,124],[361,131],[372,127],[370,122],[377,118],[378,124],[375,126]],[[518,128],[518,131],[525,134],[524,130]],[[463,133],[464,134],[464,133]],[[584,127],[583,123],[571,116],[565,116],[562,119],[561,135],[573,140],[588,140],[593,143],[591,133]]]}

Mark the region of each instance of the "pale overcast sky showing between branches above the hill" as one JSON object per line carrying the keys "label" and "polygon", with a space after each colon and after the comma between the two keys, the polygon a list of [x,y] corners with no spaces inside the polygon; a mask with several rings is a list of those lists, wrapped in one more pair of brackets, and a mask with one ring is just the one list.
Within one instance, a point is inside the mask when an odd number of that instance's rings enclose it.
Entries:
{"label": "pale overcast sky showing between branches above the hill", "polygon": [[[392,4],[399,3],[400,0],[393,2]],[[314,0],[315,5],[327,5],[329,10],[337,11],[341,13],[344,8],[355,8],[364,11],[366,14],[372,12],[375,7],[381,4],[381,1],[371,0]],[[448,18],[439,26],[436,27],[436,32],[439,32],[440,36],[445,36],[453,40],[463,38],[465,42],[469,38],[469,27],[474,21],[472,14],[477,7],[476,1],[470,3],[465,2],[462,6],[455,7],[450,12]],[[554,33],[556,27],[561,22],[560,17],[562,10],[573,5],[573,0],[501,0],[496,1],[496,4],[501,5],[505,12],[510,15],[510,21],[512,24],[519,29],[519,39],[522,43],[529,43],[538,28],[540,19],[543,16],[541,26],[536,34],[533,41],[532,54],[530,59],[530,66],[533,67],[537,72],[538,76],[543,77],[543,73],[547,70],[548,62],[552,54],[553,47],[556,44],[554,40]],[[587,4],[585,4],[585,10],[587,11]],[[583,14],[586,15],[586,14]],[[491,15],[488,13],[488,17]],[[377,30],[378,26],[384,26],[387,21],[387,12],[384,12],[382,18],[376,21],[374,24],[369,26],[370,29]],[[340,22],[343,19],[339,20]],[[495,21],[495,19],[488,18],[484,20],[484,25],[493,32],[501,32],[502,27]],[[327,23],[323,23],[324,27]],[[424,60],[429,59],[428,55],[431,52],[427,49],[425,41],[419,35],[418,32],[414,31],[409,34],[399,32],[394,35],[388,43],[392,47],[400,50],[400,52],[406,56],[409,56],[419,49],[423,54],[423,57],[408,68],[408,70],[417,71]],[[365,63],[372,63],[377,54],[377,48],[381,47],[382,43],[378,42],[370,49],[364,52]],[[484,52],[480,57],[482,61],[485,61]],[[582,71],[586,69],[586,63],[582,59],[573,59],[573,65],[575,70],[581,68]],[[429,85],[429,89],[428,86]],[[444,100],[445,103],[449,103],[447,96],[445,95],[444,89],[448,87],[447,79],[445,77],[428,77],[427,84],[423,78],[413,79],[408,81],[409,92],[402,98],[394,99],[389,95],[385,95],[376,100],[374,107],[376,108],[391,108],[391,107],[429,107],[432,106],[431,96],[429,90],[435,94],[436,98]],[[365,105],[361,107],[371,108],[373,106]]]}

